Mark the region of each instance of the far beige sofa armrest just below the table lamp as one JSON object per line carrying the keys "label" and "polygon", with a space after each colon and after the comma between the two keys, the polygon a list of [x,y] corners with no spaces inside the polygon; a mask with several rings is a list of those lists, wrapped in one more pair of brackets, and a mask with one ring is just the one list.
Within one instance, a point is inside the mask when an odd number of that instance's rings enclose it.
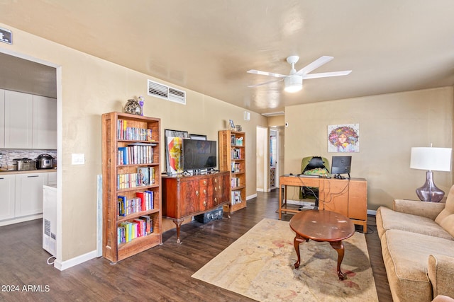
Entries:
{"label": "far beige sofa armrest just below the table lamp", "polygon": [[442,202],[421,202],[419,200],[394,199],[392,209],[406,214],[413,214],[435,220],[445,208]]}

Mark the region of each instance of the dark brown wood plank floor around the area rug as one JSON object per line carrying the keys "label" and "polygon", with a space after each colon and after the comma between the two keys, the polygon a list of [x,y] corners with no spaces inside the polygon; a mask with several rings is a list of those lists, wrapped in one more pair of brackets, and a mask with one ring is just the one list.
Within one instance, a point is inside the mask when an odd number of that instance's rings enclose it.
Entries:
{"label": "dark brown wood plank floor around the area rug", "polygon": [[[2,226],[0,301],[252,301],[191,275],[263,218],[278,219],[278,207],[277,192],[259,192],[231,219],[182,226],[181,245],[170,230],[162,245],[116,265],[98,258],[63,272],[47,264],[41,219]],[[378,296],[392,301],[373,217],[370,223],[366,240]]]}

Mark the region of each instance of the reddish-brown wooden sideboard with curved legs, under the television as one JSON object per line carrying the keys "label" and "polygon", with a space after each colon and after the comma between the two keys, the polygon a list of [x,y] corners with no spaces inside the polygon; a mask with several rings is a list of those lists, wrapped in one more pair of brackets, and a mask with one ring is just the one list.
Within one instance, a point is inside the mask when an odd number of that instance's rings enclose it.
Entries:
{"label": "reddish-brown wooden sideboard with curved legs, under the television", "polygon": [[179,228],[185,218],[230,204],[228,171],[193,176],[162,176],[161,180],[162,216],[172,219],[177,226],[177,243],[181,243]]}

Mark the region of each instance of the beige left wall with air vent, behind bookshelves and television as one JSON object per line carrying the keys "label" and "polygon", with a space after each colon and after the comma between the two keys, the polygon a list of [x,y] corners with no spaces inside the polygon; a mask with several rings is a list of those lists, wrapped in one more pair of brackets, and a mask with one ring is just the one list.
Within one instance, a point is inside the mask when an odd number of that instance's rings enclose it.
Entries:
{"label": "beige left wall with air vent, behind bookshelves and television", "polygon": [[[267,126],[265,117],[251,112],[250,121],[244,121],[243,108],[172,83],[167,84],[187,91],[187,105],[150,97],[146,93],[147,79],[153,79],[150,76],[9,25],[0,23],[0,26],[11,29],[14,35],[13,45],[1,43],[1,52],[50,62],[58,67],[57,74],[61,74],[61,82],[57,80],[57,83],[62,249],[57,261],[70,260],[96,250],[96,177],[101,174],[101,114],[122,111],[128,98],[144,95],[144,114],[160,117],[162,129],[181,129],[218,140],[218,130],[226,129],[226,121],[231,119],[235,124],[241,124],[248,134],[245,145],[248,149],[247,194],[255,194],[255,129],[258,125]],[[164,144],[161,146],[164,154]],[[84,153],[85,164],[72,165],[72,153]]]}

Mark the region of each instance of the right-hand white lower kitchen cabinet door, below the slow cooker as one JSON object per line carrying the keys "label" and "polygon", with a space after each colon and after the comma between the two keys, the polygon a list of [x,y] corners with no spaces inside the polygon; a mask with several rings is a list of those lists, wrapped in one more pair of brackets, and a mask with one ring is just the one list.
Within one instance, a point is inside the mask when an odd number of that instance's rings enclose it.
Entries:
{"label": "right-hand white lower kitchen cabinet door, below the slow cooker", "polygon": [[48,173],[16,175],[16,217],[43,213],[43,185],[47,184]]}

